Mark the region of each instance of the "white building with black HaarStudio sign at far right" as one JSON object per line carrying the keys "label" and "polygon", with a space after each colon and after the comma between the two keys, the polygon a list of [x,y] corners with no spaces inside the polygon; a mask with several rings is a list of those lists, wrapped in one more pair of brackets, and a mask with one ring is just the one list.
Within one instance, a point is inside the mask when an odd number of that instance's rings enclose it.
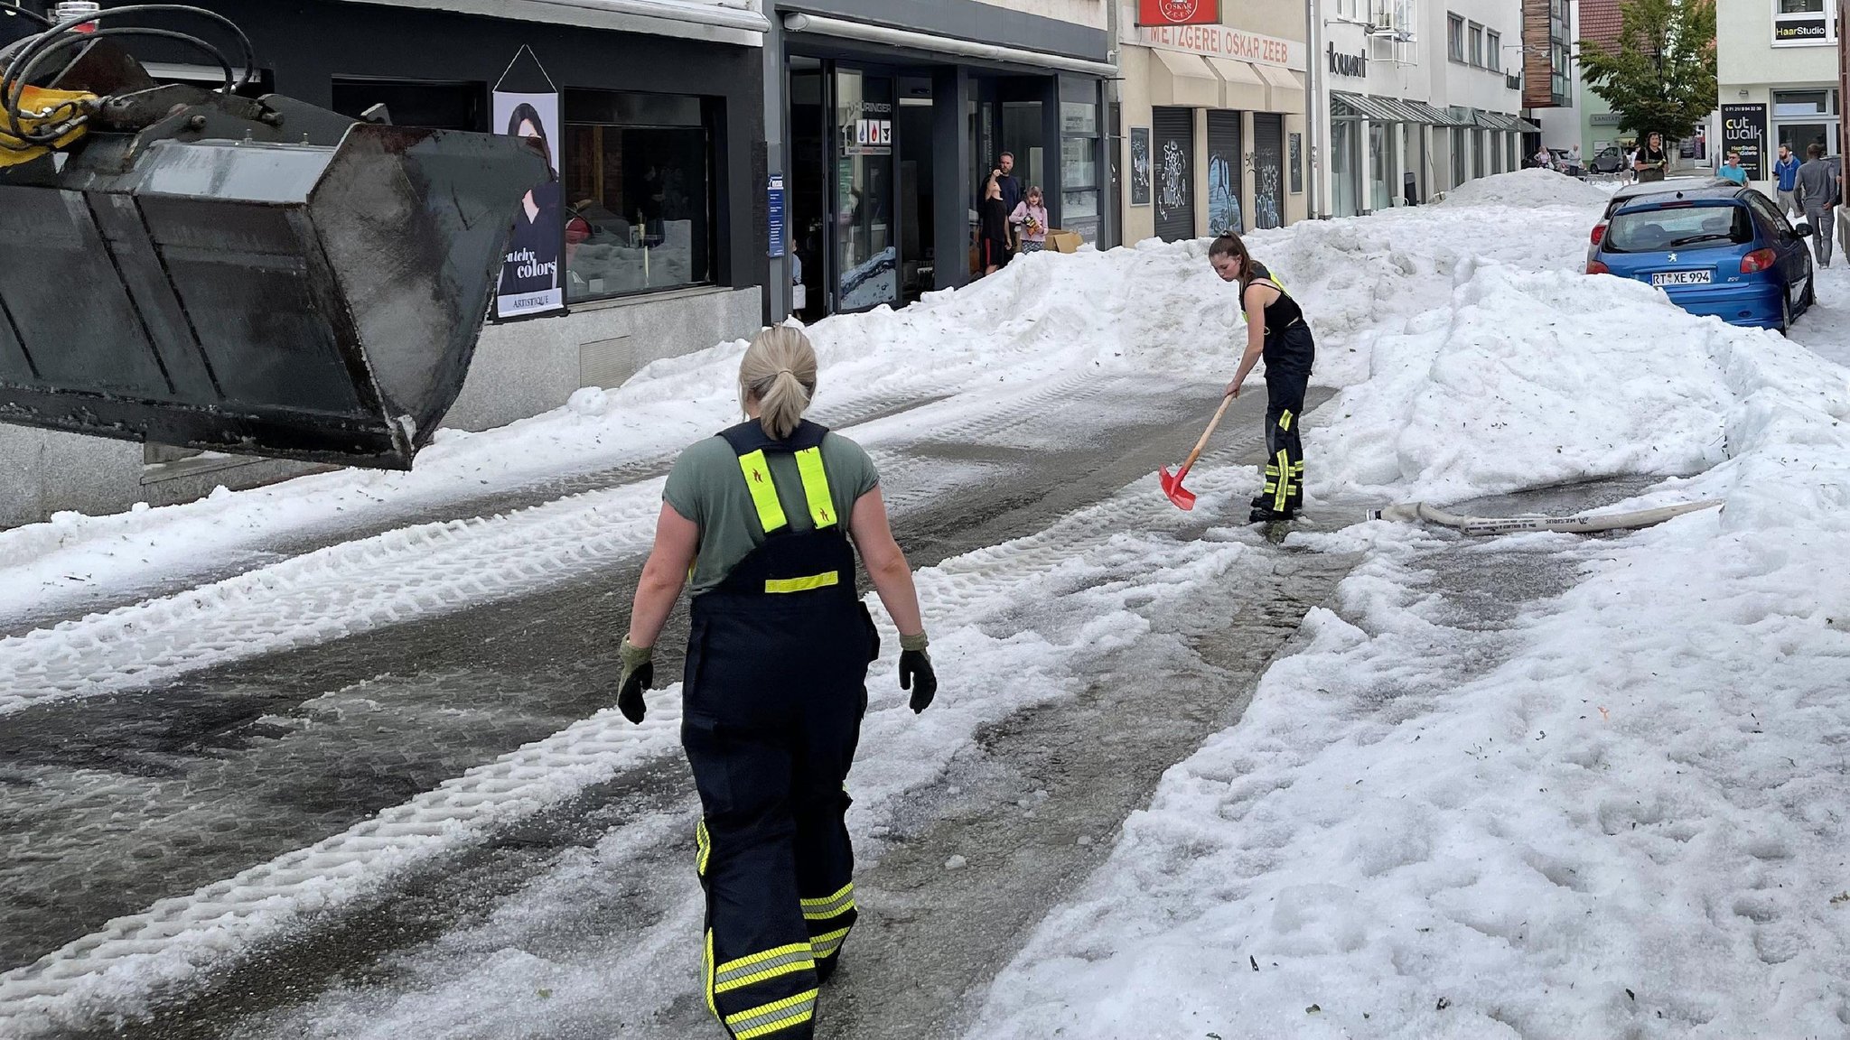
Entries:
{"label": "white building with black HaarStudio sign at far right", "polygon": [[1844,146],[1837,0],[1719,0],[1715,6],[1720,148],[1739,148],[1756,187],[1769,189],[1782,144],[1804,157]]}

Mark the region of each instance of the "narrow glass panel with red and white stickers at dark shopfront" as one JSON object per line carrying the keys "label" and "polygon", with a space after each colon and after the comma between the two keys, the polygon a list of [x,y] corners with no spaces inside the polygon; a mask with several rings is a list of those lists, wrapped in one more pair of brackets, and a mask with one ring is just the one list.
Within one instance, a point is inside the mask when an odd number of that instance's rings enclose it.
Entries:
{"label": "narrow glass panel with red and white stickers at dark shopfront", "polygon": [[836,68],[834,130],[834,309],[897,303],[892,76]]}

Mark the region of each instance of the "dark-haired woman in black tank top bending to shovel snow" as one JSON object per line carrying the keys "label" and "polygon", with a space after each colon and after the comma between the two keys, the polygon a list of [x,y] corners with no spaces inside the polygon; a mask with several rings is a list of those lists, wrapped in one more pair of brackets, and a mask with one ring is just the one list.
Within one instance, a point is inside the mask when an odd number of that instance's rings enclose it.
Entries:
{"label": "dark-haired woman in black tank top bending to shovel snow", "polygon": [[1265,490],[1252,500],[1252,522],[1295,520],[1304,507],[1304,390],[1317,361],[1317,344],[1304,311],[1265,265],[1252,259],[1240,235],[1221,235],[1208,246],[1208,263],[1221,281],[1240,285],[1247,315],[1247,350],[1227,394],[1238,398],[1252,366],[1265,359]]}

